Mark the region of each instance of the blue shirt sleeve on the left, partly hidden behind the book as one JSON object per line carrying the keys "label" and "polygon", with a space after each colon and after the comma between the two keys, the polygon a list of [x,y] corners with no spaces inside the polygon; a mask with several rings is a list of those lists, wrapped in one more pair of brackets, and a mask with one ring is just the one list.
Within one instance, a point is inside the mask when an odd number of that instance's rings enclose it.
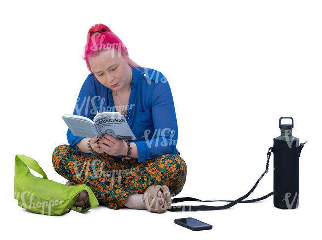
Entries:
{"label": "blue shirt sleeve on the left, partly hidden behind the book", "polygon": [[[97,109],[93,101],[94,96],[94,83],[90,77],[90,75],[86,78],[81,90],[79,92],[76,105],[74,108],[73,115],[84,116],[91,120],[94,119]],[[67,140],[69,145],[76,149],[76,153],[78,153],[79,149],[77,147],[77,143],[85,137],[74,136],[70,129],[67,130]],[[91,153],[82,152],[85,156],[90,156]]]}

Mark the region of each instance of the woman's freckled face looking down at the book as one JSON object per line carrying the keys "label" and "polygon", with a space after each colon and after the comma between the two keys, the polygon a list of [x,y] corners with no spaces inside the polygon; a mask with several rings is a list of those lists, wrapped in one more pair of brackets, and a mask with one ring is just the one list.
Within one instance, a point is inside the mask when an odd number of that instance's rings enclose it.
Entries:
{"label": "woman's freckled face looking down at the book", "polygon": [[[128,54],[124,59],[117,50],[109,49],[99,52],[97,56],[89,57],[88,63],[101,84],[118,91],[127,88],[132,81],[132,68],[128,64]],[[117,84],[117,85],[116,85]]]}

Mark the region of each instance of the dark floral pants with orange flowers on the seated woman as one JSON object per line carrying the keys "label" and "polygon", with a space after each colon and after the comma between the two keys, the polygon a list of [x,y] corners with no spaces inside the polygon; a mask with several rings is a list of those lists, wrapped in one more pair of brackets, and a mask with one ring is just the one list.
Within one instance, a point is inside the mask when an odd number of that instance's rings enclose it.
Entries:
{"label": "dark floral pants with orange flowers on the seated woman", "polygon": [[167,185],[171,197],[181,192],[187,165],[177,154],[165,154],[145,162],[131,158],[129,163],[108,155],[85,156],[70,145],[54,149],[55,171],[76,184],[86,184],[97,200],[111,209],[124,207],[131,193],[143,194],[151,185]]}

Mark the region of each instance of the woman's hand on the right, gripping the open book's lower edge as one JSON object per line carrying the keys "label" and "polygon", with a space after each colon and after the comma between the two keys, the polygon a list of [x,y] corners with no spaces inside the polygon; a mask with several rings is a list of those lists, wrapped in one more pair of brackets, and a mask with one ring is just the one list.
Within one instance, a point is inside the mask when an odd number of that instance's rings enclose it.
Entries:
{"label": "woman's hand on the right, gripping the open book's lower edge", "polygon": [[101,149],[111,156],[125,156],[127,153],[127,143],[108,134],[104,134],[98,143]]}

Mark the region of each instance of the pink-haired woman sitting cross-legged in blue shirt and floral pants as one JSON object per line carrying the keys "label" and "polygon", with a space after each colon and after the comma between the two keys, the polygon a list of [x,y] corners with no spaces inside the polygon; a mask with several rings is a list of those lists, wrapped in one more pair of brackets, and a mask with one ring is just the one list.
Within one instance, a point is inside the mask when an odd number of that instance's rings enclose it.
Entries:
{"label": "pink-haired woman sitting cross-legged in blue shirt and floral pants", "polygon": [[[66,185],[89,186],[108,208],[164,212],[187,175],[176,149],[178,126],[167,79],[134,63],[122,41],[103,24],[90,28],[83,58],[90,74],[73,114],[93,120],[97,113],[118,111],[137,139],[120,140],[112,132],[79,137],[68,129],[70,145],[59,145],[52,154],[55,171],[69,180]],[[87,204],[87,197],[81,192],[75,205]]]}

